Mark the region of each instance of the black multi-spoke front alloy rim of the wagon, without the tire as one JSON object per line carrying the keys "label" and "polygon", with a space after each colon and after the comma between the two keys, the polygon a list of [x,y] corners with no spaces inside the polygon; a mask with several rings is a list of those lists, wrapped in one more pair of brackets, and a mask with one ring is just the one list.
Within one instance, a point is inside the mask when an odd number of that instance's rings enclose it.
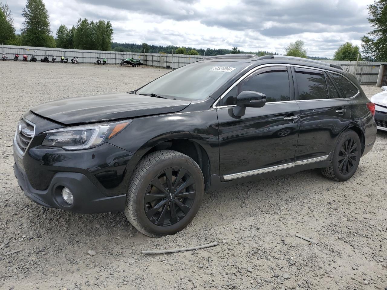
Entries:
{"label": "black multi-spoke front alloy rim of the wagon, without the tire", "polygon": [[182,220],[194,204],[194,183],[192,175],[181,167],[168,168],[154,177],[144,197],[149,220],[163,227]]}

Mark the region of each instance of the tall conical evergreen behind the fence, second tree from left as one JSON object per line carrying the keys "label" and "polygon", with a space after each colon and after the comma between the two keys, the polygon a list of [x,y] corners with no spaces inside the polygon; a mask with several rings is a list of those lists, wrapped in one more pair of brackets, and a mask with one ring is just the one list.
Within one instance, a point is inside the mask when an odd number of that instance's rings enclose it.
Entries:
{"label": "tall conical evergreen behind the fence, second tree from left", "polygon": [[55,47],[48,11],[42,0],[27,0],[22,15],[25,18],[21,30],[23,45]]}

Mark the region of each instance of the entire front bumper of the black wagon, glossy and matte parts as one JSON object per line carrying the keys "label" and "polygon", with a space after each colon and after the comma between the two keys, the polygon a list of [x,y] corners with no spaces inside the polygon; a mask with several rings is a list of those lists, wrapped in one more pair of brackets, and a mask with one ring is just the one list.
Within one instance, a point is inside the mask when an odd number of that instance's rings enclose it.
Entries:
{"label": "entire front bumper of the black wagon, glossy and matte parts", "polygon": [[[108,142],[67,151],[41,145],[47,130],[60,125],[26,113],[34,136],[23,152],[14,140],[14,172],[26,196],[36,203],[77,213],[123,211],[128,183],[140,156]],[[62,198],[67,187],[74,203]]]}

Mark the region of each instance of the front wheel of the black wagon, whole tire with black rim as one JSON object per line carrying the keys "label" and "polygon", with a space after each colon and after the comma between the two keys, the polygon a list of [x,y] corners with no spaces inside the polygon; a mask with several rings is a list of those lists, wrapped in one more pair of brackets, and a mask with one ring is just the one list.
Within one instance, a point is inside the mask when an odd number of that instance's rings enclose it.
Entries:
{"label": "front wheel of the black wagon, whole tire with black rim", "polygon": [[[170,184],[168,180],[171,180]],[[187,182],[189,185],[185,186]],[[176,192],[174,188],[182,190]],[[174,194],[178,195],[175,197]],[[203,194],[203,174],[192,158],[173,150],[155,151],[143,157],[135,167],[126,197],[125,215],[144,235],[154,238],[172,235],[192,221]]]}

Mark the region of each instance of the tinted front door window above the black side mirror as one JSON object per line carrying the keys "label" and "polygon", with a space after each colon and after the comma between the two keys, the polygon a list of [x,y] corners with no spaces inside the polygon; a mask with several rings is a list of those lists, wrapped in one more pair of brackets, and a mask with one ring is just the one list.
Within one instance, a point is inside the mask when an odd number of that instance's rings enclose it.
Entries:
{"label": "tinted front door window above the black side mirror", "polygon": [[244,82],[240,88],[266,95],[267,102],[290,101],[289,77],[287,71],[260,73]]}

